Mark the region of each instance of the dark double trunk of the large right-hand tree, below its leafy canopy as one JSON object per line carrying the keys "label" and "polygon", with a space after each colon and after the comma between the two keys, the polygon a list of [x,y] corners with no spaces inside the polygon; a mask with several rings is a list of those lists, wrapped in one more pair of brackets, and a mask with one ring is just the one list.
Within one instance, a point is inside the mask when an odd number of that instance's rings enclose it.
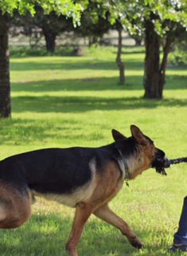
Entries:
{"label": "dark double trunk of the large right-hand tree, below its leafy canopy", "polygon": [[[155,21],[161,22],[161,31],[157,31]],[[153,13],[145,20],[145,98],[162,99],[166,84],[167,59],[177,37],[186,33],[181,22],[163,19]],[[162,48],[162,57],[161,57]]]}

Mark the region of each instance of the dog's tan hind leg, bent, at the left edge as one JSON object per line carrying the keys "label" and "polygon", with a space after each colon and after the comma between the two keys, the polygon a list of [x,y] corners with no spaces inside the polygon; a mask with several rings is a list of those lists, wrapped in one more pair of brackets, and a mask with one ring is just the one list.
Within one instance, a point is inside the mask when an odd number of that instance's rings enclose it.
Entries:
{"label": "dog's tan hind leg, bent, at the left edge", "polygon": [[25,188],[23,191],[0,184],[0,228],[9,229],[21,226],[31,215],[32,196]]}

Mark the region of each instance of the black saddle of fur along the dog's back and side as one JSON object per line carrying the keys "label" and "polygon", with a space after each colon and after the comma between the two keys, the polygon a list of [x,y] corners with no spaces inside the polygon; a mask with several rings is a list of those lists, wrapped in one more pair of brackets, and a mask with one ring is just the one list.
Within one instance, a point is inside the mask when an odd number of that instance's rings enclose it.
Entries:
{"label": "black saddle of fur along the dog's back and side", "polygon": [[0,180],[24,191],[66,194],[91,179],[90,160],[99,170],[114,159],[115,145],[101,148],[47,148],[0,161]]}

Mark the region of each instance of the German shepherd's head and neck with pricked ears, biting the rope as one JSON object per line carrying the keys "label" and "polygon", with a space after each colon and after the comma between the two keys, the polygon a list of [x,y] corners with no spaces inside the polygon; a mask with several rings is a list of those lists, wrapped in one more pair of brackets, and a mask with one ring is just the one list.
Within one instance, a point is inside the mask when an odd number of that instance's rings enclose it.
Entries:
{"label": "German shepherd's head and neck with pricked ears, biting the rope", "polygon": [[117,147],[127,161],[131,179],[142,171],[154,167],[158,173],[166,175],[165,168],[169,167],[169,160],[165,152],[154,146],[154,141],[144,135],[138,127],[131,125],[131,137],[123,136],[112,130],[112,136]]}

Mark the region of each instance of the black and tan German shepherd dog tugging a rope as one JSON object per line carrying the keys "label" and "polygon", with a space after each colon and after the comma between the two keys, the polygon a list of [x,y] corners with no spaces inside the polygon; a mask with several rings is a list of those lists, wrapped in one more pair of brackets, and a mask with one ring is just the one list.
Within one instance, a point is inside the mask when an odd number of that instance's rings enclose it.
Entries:
{"label": "black and tan German shepherd dog tugging a rope", "polygon": [[118,228],[131,245],[142,242],[131,227],[108,207],[123,186],[142,171],[164,171],[165,153],[131,125],[131,137],[112,130],[114,143],[100,148],[46,148],[10,156],[0,161],[0,228],[21,226],[31,215],[35,195],[76,207],[66,249],[77,256],[76,247],[90,215]]}

